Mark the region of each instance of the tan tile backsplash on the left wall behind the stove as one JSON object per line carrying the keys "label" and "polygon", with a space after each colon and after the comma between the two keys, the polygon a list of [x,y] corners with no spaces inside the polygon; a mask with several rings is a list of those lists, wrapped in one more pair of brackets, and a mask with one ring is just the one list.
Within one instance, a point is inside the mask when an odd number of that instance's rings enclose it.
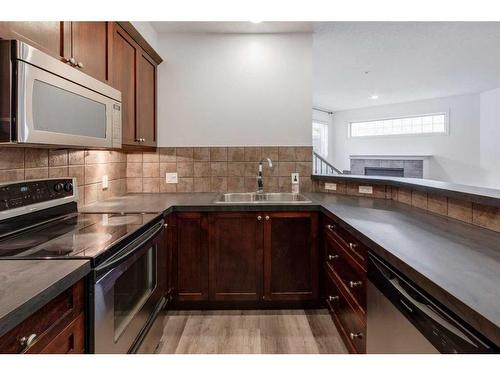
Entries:
{"label": "tan tile backsplash on the left wall behind the stove", "polygon": [[[79,204],[126,193],[127,156],[121,151],[0,147],[0,183],[76,177]],[[102,176],[109,186],[102,189]]]}

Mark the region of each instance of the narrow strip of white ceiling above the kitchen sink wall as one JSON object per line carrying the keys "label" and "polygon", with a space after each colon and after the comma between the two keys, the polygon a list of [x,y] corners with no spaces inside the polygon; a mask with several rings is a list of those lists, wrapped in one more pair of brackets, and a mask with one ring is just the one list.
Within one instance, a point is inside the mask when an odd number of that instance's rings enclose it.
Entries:
{"label": "narrow strip of white ceiling above the kitchen sink wall", "polygon": [[310,33],[313,22],[151,22],[159,33]]}

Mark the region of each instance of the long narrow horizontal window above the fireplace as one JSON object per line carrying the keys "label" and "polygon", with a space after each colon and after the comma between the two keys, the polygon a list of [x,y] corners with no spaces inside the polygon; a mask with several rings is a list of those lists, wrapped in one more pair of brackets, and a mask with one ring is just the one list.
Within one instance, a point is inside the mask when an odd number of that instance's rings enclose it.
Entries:
{"label": "long narrow horizontal window above the fireplace", "polygon": [[350,137],[373,137],[408,134],[446,134],[448,131],[446,113],[398,117],[384,120],[351,122]]}

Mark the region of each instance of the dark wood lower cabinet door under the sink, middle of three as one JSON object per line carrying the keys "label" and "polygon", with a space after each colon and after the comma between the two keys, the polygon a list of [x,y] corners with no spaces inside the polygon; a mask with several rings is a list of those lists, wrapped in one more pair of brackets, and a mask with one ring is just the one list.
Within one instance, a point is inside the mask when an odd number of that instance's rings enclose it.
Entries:
{"label": "dark wood lower cabinet door under the sink, middle of three", "polygon": [[263,224],[257,213],[209,217],[210,300],[262,299]]}

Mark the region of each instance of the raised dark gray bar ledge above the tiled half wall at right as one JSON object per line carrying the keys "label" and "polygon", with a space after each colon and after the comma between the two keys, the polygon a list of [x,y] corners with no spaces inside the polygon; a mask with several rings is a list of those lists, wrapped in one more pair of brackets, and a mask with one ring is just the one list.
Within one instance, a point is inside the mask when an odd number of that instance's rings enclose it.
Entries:
{"label": "raised dark gray bar ledge above the tiled half wall at right", "polygon": [[360,175],[313,175],[313,180],[331,181],[337,183],[354,182],[373,185],[390,185],[426,191],[445,195],[447,197],[463,199],[469,202],[500,207],[500,190],[480,186],[454,184],[451,182],[427,180],[422,178],[380,177]]}

